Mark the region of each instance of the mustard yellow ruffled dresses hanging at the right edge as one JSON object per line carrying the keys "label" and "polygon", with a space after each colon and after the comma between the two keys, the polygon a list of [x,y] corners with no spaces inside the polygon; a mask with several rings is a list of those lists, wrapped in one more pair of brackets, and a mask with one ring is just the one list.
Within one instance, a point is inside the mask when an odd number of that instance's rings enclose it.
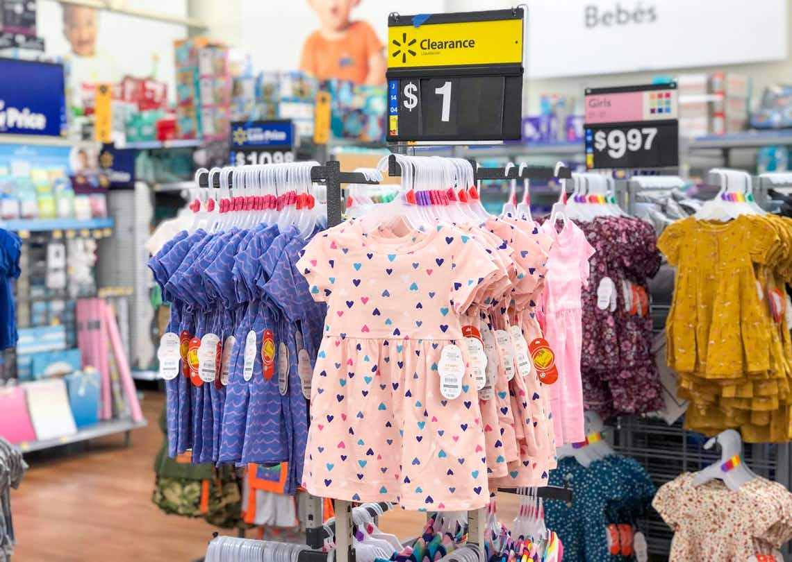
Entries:
{"label": "mustard yellow ruffled dresses hanging at the right edge", "polygon": [[786,296],[792,221],[689,217],[666,228],[657,247],[676,266],[667,359],[691,401],[685,426],[707,435],[738,428],[753,443],[792,438],[790,333],[768,304],[774,289]]}

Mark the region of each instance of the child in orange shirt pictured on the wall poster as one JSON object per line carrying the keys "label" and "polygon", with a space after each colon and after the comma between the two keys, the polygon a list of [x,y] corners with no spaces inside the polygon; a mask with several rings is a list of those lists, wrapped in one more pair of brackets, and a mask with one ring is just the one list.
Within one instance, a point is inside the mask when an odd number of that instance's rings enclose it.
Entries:
{"label": "child in orange shirt pictured on the wall poster", "polygon": [[385,84],[385,46],[371,25],[350,21],[360,0],[308,0],[319,28],[308,36],[300,70],[319,80],[338,78],[355,84]]}

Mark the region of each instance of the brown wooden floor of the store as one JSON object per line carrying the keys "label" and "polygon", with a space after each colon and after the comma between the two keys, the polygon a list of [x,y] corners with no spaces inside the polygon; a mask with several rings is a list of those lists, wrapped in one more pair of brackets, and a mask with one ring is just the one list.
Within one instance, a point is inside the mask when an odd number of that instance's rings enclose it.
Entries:
{"label": "brown wooden floor of the store", "polygon": [[[145,394],[149,424],[133,432],[131,447],[123,446],[123,436],[109,436],[85,452],[29,459],[30,470],[11,494],[15,562],[192,562],[206,553],[215,528],[166,515],[151,503],[162,402],[162,394]],[[499,500],[505,521],[514,517],[515,500]],[[424,519],[397,509],[380,526],[406,538]]]}

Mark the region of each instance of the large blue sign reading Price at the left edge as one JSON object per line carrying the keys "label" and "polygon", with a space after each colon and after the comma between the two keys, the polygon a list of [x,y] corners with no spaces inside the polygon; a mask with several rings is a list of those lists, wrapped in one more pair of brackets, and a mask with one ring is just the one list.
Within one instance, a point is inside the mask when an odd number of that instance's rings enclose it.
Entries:
{"label": "large blue sign reading Price at the left edge", "polygon": [[0,134],[66,134],[63,66],[0,58]]}

